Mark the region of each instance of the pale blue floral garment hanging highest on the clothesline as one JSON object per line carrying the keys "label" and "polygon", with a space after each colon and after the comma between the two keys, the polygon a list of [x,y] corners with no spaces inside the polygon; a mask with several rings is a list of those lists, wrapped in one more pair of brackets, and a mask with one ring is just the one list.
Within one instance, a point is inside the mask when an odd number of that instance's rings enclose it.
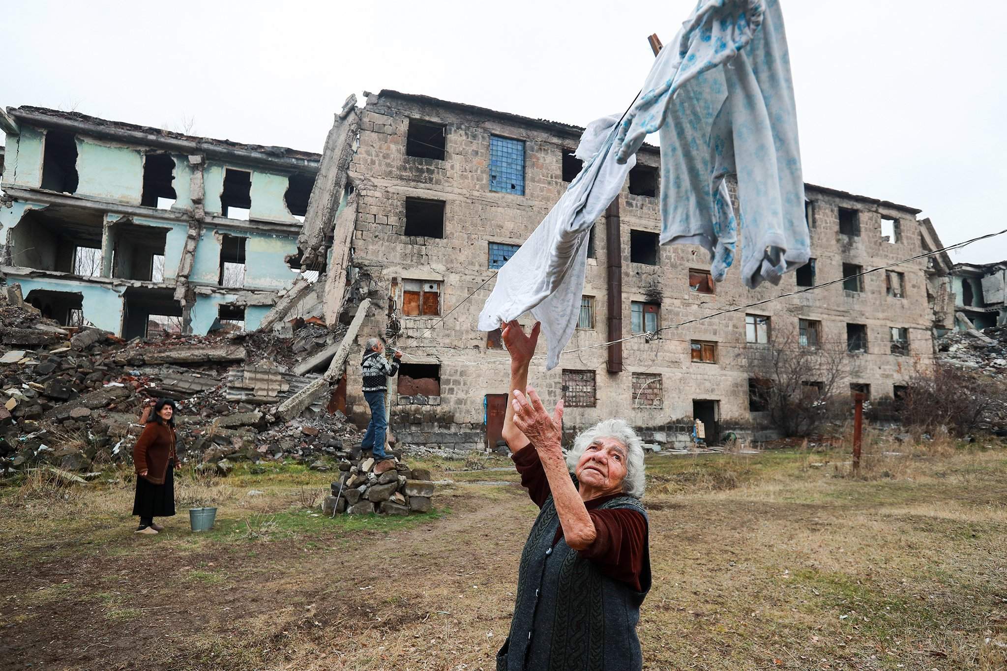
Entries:
{"label": "pale blue floral garment hanging highest on the clothesline", "polygon": [[[741,220],[744,284],[810,257],[797,112],[778,0],[701,0],[626,114],[617,161],[661,137],[663,244],[701,244],[720,282]],[[736,214],[724,177],[736,173]]]}

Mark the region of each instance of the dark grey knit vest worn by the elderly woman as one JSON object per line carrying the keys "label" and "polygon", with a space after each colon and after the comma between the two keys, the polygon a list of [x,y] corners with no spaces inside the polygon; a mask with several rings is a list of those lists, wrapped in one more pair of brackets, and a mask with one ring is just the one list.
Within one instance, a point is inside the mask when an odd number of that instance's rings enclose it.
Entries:
{"label": "dark grey knit vest worn by the elderly woman", "polygon": [[[639,501],[620,496],[598,509],[631,508]],[[642,667],[636,623],[651,590],[651,552],[643,550],[640,588],[604,575],[561,538],[560,519],[550,496],[525,543],[518,570],[518,596],[511,635],[496,655],[496,671],[638,671]]]}

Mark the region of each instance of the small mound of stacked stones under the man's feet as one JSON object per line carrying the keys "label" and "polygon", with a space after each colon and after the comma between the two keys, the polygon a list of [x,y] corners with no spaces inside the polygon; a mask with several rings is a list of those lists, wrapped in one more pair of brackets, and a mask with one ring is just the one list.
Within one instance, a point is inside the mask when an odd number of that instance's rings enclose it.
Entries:
{"label": "small mound of stacked stones under the man's feet", "polygon": [[434,483],[430,471],[410,469],[399,461],[394,469],[379,475],[374,466],[375,460],[367,451],[355,460],[340,461],[339,477],[332,483],[331,496],[322,502],[322,511],[330,516],[409,515],[431,509]]}

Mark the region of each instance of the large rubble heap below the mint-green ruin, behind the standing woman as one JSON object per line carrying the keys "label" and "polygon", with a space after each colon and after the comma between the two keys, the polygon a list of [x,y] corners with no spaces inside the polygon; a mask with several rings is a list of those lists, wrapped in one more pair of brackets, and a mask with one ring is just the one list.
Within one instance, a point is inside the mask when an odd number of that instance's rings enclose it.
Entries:
{"label": "large rubble heap below the mint-green ruin, behind the standing woman", "polygon": [[[7,298],[7,297],[3,297]],[[275,410],[318,379],[303,362],[338,343],[318,323],[280,334],[218,332],[124,341],[0,303],[0,475],[50,465],[88,473],[128,463],[142,407],[169,397],[180,457],[227,474],[239,460],[309,462],[349,453],[359,432],[315,398],[290,422]]]}

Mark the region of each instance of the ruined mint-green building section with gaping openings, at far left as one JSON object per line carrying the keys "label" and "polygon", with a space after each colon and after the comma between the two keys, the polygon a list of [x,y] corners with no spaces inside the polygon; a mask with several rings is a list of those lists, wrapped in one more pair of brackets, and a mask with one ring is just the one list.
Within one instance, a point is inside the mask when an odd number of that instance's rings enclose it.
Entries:
{"label": "ruined mint-green building section with gaping openings, at far left", "polygon": [[2,272],[44,315],[251,329],[295,278],[319,155],[31,107],[3,122]]}

